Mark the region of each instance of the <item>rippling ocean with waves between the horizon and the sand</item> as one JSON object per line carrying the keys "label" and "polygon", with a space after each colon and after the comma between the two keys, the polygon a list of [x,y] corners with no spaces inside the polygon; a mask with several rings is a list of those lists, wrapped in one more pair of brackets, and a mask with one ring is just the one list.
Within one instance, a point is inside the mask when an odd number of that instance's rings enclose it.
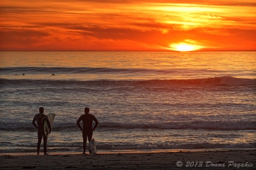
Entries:
{"label": "rippling ocean with waves between the horizon and the sand", "polygon": [[85,107],[98,152],[255,149],[255,63],[256,52],[0,52],[0,153],[36,152],[39,107],[56,114],[50,153],[82,152]]}

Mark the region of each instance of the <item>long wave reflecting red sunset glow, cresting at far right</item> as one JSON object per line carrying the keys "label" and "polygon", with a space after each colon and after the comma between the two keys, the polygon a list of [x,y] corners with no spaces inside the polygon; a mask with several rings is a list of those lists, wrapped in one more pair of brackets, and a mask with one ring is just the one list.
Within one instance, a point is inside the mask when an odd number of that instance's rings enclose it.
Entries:
{"label": "long wave reflecting red sunset glow, cresting at far right", "polygon": [[0,79],[0,85],[20,85],[45,84],[53,86],[255,86],[256,79],[234,78],[232,76],[222,76],[201,79],[151,79],[151,80],[32,80],[32,79]]}

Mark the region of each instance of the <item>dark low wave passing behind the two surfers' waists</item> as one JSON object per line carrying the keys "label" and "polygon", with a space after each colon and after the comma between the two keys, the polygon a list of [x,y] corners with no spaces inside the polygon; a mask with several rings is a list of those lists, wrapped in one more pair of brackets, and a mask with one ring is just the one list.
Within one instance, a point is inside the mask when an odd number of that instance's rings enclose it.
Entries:
{"label": "dark low wave passing behind the two surfers' waists", "polygon": [[[192,122],[166,122],[162,124],[129,124],[117,122],[101,122],[99,129],[207,129],[207,130],[255,130],[256,121],[192,121]],[[52,129],[74,130],[77,129],[76,123],[56,122]],[[34,130],[34,126],[28,123],[16,122],[15,124],[7,124],[1,122],[0,130]]]}

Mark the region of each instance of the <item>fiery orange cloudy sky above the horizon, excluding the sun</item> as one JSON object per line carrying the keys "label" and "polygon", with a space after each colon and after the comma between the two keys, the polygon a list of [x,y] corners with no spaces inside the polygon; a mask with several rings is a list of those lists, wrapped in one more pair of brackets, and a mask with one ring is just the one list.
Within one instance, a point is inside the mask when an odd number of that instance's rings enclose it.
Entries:
{"label": "fiery orange cloudy sky above the horizon, excluding the sun", "polygon": [[256,50],[255,0],[0,0],[0,50]]}

